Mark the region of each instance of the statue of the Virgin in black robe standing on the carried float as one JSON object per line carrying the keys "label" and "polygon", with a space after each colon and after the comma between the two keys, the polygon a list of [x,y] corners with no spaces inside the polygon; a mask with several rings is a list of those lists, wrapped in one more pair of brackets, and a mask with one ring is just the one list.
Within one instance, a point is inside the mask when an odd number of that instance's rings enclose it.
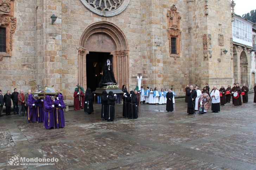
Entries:
{"label": "statue of the Virgin in black robe standing on the carried float", "polygon": [[102,87],[104,84],[110,84],[110,83],[116,84],[116,79],[114,76],[112,64],[110,64],[110,60],[107,60],[107,62],[104,65],[103,75],[101,77],[99,87]]}

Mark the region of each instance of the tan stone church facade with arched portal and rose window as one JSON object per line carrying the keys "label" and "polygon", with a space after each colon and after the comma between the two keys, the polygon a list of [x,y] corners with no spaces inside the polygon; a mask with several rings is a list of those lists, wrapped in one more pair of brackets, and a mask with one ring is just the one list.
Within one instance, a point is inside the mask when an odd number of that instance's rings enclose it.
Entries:
{"label": "tan stone church facade with arched portal and rose window", "polygon": [[117,83],[129,90],[138,74],[144,87],[173,85],[179,96],[187,84],[227,87],[234,81],[230,0],[0,2],[4,92],[54,85],[72,105],[77,83],[86,88],[98,82],[100,72],[89,63],[97,67],[108,58]]}

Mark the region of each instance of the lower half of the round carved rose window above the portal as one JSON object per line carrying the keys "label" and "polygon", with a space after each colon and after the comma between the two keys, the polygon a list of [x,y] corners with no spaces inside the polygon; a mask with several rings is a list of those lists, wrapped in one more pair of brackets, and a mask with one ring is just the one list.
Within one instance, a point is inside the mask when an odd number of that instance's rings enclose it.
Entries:
{"label": "lower half of the round carved rose window above the portal", "polygon": [[81,0],[90,11],[101,16],[115,16],[126,9],[130,0]]}

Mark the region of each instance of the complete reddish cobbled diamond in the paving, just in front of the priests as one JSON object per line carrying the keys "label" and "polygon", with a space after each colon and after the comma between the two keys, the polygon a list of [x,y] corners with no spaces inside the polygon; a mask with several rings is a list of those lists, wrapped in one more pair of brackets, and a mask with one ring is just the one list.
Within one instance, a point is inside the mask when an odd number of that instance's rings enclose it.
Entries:
{"label": "complete reddish cobbled diamond in the paving, just in front of the priests", "polygon": [[225,130],[200,128],[195,126],[177,124],[157,128],[148,127],[142,129],[133,129],[127,131],[127,135],[143,138],[154,142],[175,145],[223,131]]}

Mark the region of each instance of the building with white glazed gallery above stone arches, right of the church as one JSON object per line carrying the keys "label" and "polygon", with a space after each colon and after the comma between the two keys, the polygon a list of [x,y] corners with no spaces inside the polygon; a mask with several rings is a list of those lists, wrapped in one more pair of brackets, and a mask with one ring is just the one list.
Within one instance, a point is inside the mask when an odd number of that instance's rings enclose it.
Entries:
{"label": "building with white glazed gallery above stone arches, right of the church", "polygon": [[[246,83],[249,88],[254,86],[251,82],[251,51],[252,26],[250,22],[239,15],[235,15],[232,22],[233,38],[233,72],[235,83]],[[255,81],[255,80],[254,80]]]}

